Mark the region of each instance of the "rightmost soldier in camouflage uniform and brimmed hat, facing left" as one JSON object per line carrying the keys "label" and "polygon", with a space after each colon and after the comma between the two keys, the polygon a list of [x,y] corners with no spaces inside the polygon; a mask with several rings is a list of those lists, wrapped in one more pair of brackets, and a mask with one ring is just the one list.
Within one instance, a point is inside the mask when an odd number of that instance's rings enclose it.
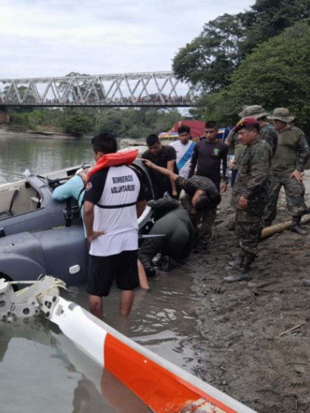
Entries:
{"label": "rightmost soldier in camouflage uniform and brimmed hat, facing left", "polygon": [[299,235],[306,235],[307,231],[300,227],[300,220],[307,212],[302,175],[309,157],[309,145],[304,133],[290,124],[294,117],[290,116],[285,107],[276,108],[268,119],[273,120],[278,130],[279,142],[271,165],[269,201],[265,208],[264,226],[270,226],[277,215],[279,191],[283,185],[287,207],[293,215],[292,230]]}

